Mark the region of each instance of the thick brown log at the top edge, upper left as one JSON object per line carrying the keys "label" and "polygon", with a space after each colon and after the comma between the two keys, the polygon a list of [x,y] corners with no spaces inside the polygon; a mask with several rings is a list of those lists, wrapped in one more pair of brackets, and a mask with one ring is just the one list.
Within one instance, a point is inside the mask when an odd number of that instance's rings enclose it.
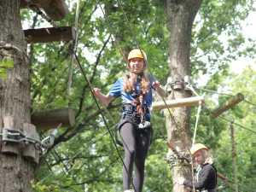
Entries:
{"label": "thick brown log at the top edge, upper left", "polygon": [[55,21],[62,20],[68,12],[67,3],[64,0],[21,0],[20,9],[27,9],[31,3],[39,9],[44,9],[45,14]]}

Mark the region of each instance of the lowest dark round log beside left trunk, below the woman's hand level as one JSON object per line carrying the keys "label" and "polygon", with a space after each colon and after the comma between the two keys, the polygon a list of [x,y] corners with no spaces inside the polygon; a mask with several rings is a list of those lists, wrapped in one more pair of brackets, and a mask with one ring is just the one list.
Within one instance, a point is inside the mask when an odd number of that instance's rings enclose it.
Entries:
{"label": "lowest dark round log beside left trunk, below the woman's hand level", "polygon": [[39,111],[32,113],[32,124],[37,130],[51,130],[58,125],[69,127],[75,124],[75,117],[72,108],[58,108],[53,110]]}

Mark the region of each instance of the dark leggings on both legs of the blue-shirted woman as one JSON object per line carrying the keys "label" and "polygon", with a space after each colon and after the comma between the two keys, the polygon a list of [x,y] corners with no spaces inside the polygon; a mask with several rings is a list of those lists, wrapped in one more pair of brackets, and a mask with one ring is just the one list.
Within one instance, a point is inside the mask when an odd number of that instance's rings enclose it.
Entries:
{"label": "dark leggings on both legs of the blue-shirted woman", "polygon": [[[133,163],[135,163],[133,184],[136,192],[142,192],[145,160],[148,154],[151,133],[150,131],[137,130],[131,123],[126,122],[120,129],[120,136],[125,148],[125,166],[123,166],[124,190],[130,189],[130,177],[132,177]],[[125,167],[130,177],[128,177]]]}

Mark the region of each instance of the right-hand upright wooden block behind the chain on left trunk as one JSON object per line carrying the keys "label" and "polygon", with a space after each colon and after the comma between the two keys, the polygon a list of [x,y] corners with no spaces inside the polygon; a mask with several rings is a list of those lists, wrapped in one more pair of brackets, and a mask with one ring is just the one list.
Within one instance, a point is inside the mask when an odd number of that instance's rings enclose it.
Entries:
{"label": "right-hand upright wooden block behind the chain on left trunk", "polygon": [[[35,138],[37,135],[36,126],[32,124],[23,124],[23,133],[27,137]],[[22,156],[24,159],[33,162],[36,157],[36,149],[34,148],[33,144],[26,143],[23,150],[22,150]]]}

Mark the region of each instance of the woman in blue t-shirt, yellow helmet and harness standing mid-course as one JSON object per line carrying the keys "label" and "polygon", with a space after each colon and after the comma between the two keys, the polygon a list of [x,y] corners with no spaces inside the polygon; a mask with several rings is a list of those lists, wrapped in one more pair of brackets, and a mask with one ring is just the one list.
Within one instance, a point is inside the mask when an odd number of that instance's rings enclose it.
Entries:
{"label": "woman in blue t-shirt, yellow helmet and harness standing mid-course", "polygon": [[143,190],[145,160],[153,137],[148,108],[152,105],[152,89],[156,90],[160,96],[166,94],[160,83],[145,73],[144,60],[147,60],[147,55],[143,50],[132,49],[127,62],[130,71],[113,84],[108,94],[103,95],[98,88],[93,89],[94,94],[104,104],[112,102],[117,96],[121,96],[122,99],[122,116],[116,131],[119,131],[122,139],[122,142],[117,139],[117,143],[125,149],[123,166],[125,192],[134,191],[130,189],[133,164],[135,165],[133,186],[136,192]]}

